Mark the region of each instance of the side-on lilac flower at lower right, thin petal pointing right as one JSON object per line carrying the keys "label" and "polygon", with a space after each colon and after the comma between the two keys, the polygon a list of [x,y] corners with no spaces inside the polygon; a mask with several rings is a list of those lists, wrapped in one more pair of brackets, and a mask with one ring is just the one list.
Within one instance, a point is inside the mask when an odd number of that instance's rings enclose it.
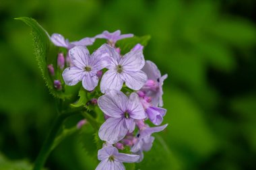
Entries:
{"label": "side-on lilac flower at lower right, thin petal pointing right", "polygon": [[[152,144],[154,142],[154,137],[151,135],[155,132],[160,132],[164,130],[166,126],[168,126],[168,124],[165,124],[163,126],[157,126],[154,128],[145,126],[144,128],[140,129],[139,134],[137,134],[137,141],[131,147],[131,152],[143,155],[141,151],[150,151],[150,149],[152,148]],[[139,161],[141,160],[142,159],[140,159]]]}

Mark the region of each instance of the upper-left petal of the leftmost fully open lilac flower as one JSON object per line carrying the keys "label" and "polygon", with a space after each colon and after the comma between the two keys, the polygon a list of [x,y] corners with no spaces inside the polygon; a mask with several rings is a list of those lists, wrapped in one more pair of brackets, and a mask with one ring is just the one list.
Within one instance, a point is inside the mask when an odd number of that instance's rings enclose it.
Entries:
{"label": "upper-left petal of the leftmost fully open lilac flower", "polygon": [[69,58],[73,65],[84,69],[84,67],[89,65],[90,52],[84,46],[75,46],[69,50]]}

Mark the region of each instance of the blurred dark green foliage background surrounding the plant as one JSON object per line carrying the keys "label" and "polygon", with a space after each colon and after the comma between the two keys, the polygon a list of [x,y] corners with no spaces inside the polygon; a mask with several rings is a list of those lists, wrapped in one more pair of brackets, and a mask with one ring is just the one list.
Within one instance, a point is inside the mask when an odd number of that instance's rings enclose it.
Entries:
{"label": "blurred dark green foliage background surrounding the plant", "polygon": [[[159,135],[169,156],[147,163],[162,155],[160,142],[141,170],[256,169],[255,6],[253,0],[0,0],[0,169],[30,167],[57,116],[31,30],[13,19],[21,16],[69,40],[119,29],[152,36],[145,58],[168,73],[169,126]],[[94,169],[98,161],[77,136],[63,141],[46,167]]]}

